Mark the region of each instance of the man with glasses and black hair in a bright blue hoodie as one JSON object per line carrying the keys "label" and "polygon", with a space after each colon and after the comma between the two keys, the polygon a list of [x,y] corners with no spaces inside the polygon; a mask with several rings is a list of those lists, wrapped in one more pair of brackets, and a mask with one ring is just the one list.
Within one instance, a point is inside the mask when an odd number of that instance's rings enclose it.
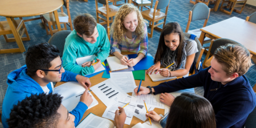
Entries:
{"label": "man with glasses and black hair in a bright blue hoodie", "polygon": [[[57,47],[48,43],[41,43],[28,48],[27,65],[12,71],[7,76],[8,87],[3,101],[2,113],[4,127],[8,127],[6,119],[9,118],[13,105],[17,105],[18,101],[29,97],[31,94],[53,92],[54,88],[50,82],[77,81],[85,89],[91,86],[89,78],[65,71],[62,68],[59,54],[60,51]],[[92,100],[91,97],[88,99]]]}

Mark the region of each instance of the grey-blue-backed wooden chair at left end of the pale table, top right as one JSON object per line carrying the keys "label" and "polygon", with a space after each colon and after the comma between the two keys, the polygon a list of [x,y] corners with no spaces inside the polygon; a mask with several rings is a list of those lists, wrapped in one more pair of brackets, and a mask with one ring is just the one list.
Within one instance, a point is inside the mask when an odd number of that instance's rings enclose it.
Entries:
{"label": "grey-blue-backed wooden chair at left end of the pale table, top right", "polygon": [[[209,19],[210,16],[210,9],[207,5],[205,5],[204,3],[197,3],[191,11],[189,11],[189,17],[188,17],[188,23],[187,23],[187,27],[186,27],[186,33],[190,33],[190,34],[194,34],[197,36],[197,38],[200,37],[201,35],[201,30],[200,29],[195,29],[195,30],[190,30],[189,26],[190,26],[190,22],[196,21],[196,20],[205,20],[204,21],[204,25],[203,27],[206,26],[207,21]],[[205,37],[204,41],[210,41],[210,38]]]}

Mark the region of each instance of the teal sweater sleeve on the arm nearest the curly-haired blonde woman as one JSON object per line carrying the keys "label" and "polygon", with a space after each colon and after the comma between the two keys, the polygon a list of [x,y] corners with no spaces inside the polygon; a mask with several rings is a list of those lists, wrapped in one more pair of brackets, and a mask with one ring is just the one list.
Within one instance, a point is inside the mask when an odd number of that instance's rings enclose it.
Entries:
{"label": "teal sweater sleeve on the arm nearest the curly-haired blonde woman", "polygon": [[94,60],[96,61],[96,59],[100,59],[101,62],[104,62],[109,56],[110,43],[109,43],[108,35],[106,33],[106,29],[103,27],[102,29],[103,30],[101,30],[102,40],[101,40],[100,52],[97,54],[97,57],[94,58]]}

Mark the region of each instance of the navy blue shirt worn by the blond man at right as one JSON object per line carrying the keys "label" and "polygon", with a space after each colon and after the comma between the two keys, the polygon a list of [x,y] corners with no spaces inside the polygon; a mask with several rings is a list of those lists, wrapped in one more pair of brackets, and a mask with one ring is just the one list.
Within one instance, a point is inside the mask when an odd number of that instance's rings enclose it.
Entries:
{"label": "navy blue shirt worn by the blond man at right", "polygon": [[212,81],[211,74],[208,73],[210,68],[154,86],[155,94],[203,86],[204,97],[214,109],[217,127],[244,127],[246,118],[256,105],[256,96],[248,79],[243,75],[222,85]]}

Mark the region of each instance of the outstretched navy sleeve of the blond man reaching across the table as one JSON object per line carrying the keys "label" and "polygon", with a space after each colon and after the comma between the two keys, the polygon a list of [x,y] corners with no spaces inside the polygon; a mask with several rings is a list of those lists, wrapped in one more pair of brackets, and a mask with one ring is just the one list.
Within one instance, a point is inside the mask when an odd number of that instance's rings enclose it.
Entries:
{"label": "outstretched navy sleeve of the blond man reaching across the table", "polygon": [[153,86],[155,90],[155,94],[165,93],[165,92],[170,93],[170,92],[175,92],[179,90],[185,90],[185,89],[191,89],[198,86],[203,86],[204,76],[206,76],[205,73],[207,73],[208,71],[207,69],[208,68],[203,69],[202,71],[199,71],[199,73],[188,76],[186,78],[182,77],[179,79],[175,79],[173,81],[161,83],[157,86]]}

